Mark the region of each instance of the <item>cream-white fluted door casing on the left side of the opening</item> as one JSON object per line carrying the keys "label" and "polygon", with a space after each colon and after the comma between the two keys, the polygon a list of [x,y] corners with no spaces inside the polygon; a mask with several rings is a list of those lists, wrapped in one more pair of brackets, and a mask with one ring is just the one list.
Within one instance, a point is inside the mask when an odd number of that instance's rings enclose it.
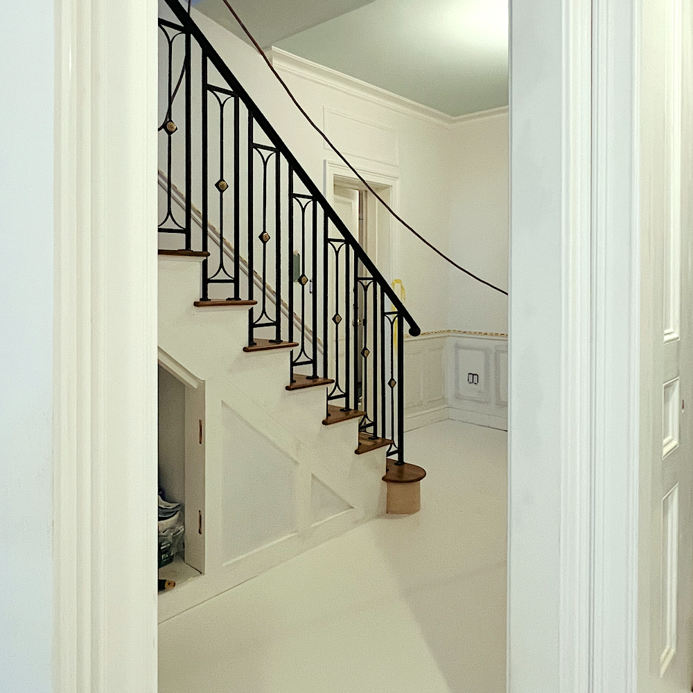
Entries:
{"label": "cream-white fluted door casing on the left side of the opening", "polygon": [[55,33],[55,690],[155,693],[157,3]]}

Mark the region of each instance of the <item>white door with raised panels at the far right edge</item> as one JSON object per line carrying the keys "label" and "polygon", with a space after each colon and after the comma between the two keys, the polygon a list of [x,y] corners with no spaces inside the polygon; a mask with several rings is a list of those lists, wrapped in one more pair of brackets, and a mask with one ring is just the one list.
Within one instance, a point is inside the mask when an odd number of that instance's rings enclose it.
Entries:
{"label": "white door with raised panels at the far right edge", "polygon": [[[683,0],[644,3],[642,21],[643,263],[651,272],[651,444],[643,450],[640,685],[690,692],[693,683],[693,180],[691,12]],[[647,284],[644,284],[647,286]],[[647,306],[646,298],[643,305]],[[648,378],[649,379],[649,378]],[[658,387],[657,387],[658,385]],[[647,405],[644,411],[647,411]],[[643,421],[647,426],[647,421]],[[644,455],[649,453],[650,459]],[[650,485],[651,484],[651,485]],[[642,592],[641,592],[642,594]]]}

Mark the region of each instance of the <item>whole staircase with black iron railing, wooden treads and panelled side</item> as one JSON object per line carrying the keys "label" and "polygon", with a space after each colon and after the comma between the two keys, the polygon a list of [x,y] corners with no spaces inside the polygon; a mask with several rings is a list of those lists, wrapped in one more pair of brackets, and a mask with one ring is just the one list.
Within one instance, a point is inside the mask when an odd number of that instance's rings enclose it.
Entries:
{"label": "whole staircase with black iron railing, wooden treads and panelled side", "polygon": [[[179,0],[160,1],[159,28],[160,362],[199,394],[186,554],[210,577],[169,617],[383,514],[386,487],[388,509],[416,511],[425,472],[404,450],[404,333],[419,327]],[[244,445],[278,450],[295,478],[297,516],[259,553],[220,529]]]}

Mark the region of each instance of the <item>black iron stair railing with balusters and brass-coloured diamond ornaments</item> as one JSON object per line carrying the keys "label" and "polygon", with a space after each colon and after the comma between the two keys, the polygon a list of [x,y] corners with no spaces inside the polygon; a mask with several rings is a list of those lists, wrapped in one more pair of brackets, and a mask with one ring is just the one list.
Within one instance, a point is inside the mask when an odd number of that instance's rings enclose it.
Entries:
{"label": "black iron stair railing with balusters and brass-coloured diamond ornaments", "polygon": [[[246,351],[291,349],[288,389],[327,385],[324,423],[358,418],[357,452],[388,446],[404,464],[404,332],[419,335],[419,326],[179,0],[160,2],[173,16],[159,18],[168,67],[159,85],[166,214],[158,230],[183,236],[193,251],[193,195],[201,195],[197,305],[247,306]],[[201,97],[194,109],[193,89]],[[184,176],[182,193],[174,174]],[[213,234],[211,213],[218,213]],[[220,299],[229,286],[232,295]]]}

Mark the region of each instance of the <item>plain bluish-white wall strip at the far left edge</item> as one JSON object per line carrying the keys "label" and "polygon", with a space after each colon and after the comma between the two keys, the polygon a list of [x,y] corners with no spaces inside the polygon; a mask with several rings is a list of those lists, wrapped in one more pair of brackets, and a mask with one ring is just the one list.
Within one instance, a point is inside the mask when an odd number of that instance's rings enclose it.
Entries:
{"label": "plain bluish-white wall strip at the far left edge", "polygon": [[0,687],[52,690],[53,2],[0,22]]}

